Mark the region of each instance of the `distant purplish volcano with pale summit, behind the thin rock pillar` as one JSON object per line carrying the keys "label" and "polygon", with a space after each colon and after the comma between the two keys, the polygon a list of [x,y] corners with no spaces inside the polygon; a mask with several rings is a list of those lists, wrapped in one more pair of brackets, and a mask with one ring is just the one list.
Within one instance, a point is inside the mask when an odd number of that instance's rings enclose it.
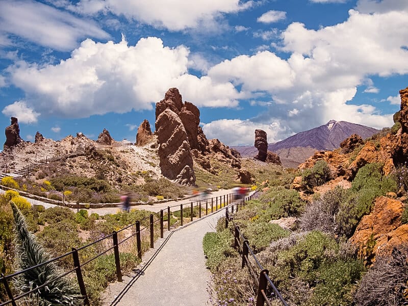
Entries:
{"label": "distant purplish volcano with pale summit, behind the thin rock pillar", "polygon": [[[363,139],[377,133],[378,130],[361,124],[347,121],[330,120],[309,131],[297,133],[282,141],[268,144],[268,150],[275,152],[281,158],[285,167],[294,167],[318,150],[334,150],[340,143],[352,134],[358,134]],[[253,146],[235,146],[242,157],[253,157],[258,150]]]}

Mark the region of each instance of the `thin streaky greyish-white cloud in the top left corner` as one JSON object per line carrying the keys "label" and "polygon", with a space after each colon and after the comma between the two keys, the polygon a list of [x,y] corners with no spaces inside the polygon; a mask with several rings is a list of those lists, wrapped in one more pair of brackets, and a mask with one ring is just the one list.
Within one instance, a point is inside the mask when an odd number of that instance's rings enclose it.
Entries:
{"label": "thin streaky greyish-white cloud in the top left corner", "polygon": [[0,1],[0,37],[1,32],[65,51],[77,46],[81,38],[109,37],[95,22],[30,0]]}

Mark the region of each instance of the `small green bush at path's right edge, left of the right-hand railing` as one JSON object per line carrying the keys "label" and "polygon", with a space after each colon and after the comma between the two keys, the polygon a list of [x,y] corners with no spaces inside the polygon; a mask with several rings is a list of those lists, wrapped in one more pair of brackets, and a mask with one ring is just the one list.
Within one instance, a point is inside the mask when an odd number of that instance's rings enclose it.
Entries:
{"label": "small green bush at path's right edge, left of the right-hand railing", "polygon": [[207,233],[202,239],[202,248],[207,256],[206,266],[215,271],[227,257],[238,253],[232,247],[234,236],[227,228],[218,233]]}

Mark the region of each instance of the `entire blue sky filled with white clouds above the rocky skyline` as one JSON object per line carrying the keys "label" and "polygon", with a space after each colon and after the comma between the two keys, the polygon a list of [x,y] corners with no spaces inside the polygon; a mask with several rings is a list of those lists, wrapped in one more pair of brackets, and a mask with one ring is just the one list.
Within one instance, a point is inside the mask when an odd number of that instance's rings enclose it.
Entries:
{"label": "entire blue sky filled with white clouds above the rocky skyline", "polygon": [[331,119],[380,129],[408,86],[406,29],[406,0],[2,0],[0,126],[135,141],[177,87],[228,145]]}

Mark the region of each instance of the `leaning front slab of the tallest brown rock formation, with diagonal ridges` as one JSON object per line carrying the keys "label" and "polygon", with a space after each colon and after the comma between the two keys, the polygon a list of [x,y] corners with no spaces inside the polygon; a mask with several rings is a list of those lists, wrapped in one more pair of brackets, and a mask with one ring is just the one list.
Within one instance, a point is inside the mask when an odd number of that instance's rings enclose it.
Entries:
{"label": "leaning front slab of the tallest brown rock formation, with diagonal ridges", "polygon": [[159,113],[156,120],[156,134],[160,143],[159,157],[162,174],[176,183],[195,185],[193,158],[187,133],[182,120],[171,108]]}

